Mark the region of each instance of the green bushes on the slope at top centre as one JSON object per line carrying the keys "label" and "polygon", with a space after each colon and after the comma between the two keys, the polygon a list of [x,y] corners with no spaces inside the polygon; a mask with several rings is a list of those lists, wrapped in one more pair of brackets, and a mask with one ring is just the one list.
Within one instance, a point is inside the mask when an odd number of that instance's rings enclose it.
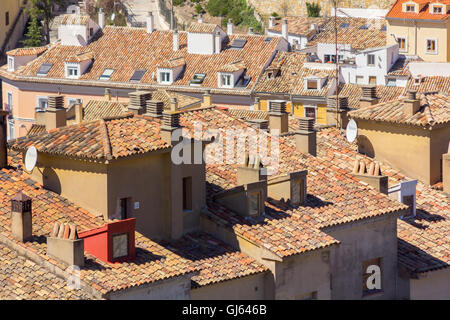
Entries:
{"label": "green bushes on the slope at top centre", "polygon": [[262,33],[263,26],[256,20],[253,8],[245,0],[209,0],[206,10],[213,17],[222,15],[223,24],[232,19],[235,25],[252,27],[255,32]]}

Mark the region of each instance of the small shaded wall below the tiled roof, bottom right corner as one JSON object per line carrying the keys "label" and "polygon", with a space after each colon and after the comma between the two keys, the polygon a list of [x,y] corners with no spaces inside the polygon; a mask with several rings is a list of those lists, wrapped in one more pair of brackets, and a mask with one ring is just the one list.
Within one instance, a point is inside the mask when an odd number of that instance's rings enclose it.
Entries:
{"label": "small shaded wall below the tiled roof, bottom right corner", "polygon": [[410,287],[412,300],[450,300],[450,268],[421,274]]}

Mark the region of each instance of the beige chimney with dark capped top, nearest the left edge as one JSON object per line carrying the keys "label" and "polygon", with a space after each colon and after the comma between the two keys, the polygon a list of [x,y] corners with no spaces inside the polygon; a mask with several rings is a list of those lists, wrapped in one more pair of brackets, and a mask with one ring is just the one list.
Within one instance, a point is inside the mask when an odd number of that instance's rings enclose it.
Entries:
{"label": "beige chimney with dark capped top, nearest the left edge", "polygon": [[32,237],[31,198],[19,192],[11,199],[11,233],[21,242]]}

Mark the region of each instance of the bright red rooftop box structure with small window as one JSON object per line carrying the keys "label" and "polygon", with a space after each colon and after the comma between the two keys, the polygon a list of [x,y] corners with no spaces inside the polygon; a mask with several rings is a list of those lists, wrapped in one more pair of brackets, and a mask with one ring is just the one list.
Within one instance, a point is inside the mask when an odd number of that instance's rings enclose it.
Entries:
{"label": "bright red rooftop box structure with small window", "polygon": [[107,223],[99,228],[80,232],[84,250],[107,263],[130,261],[136,257],[136,218]]}

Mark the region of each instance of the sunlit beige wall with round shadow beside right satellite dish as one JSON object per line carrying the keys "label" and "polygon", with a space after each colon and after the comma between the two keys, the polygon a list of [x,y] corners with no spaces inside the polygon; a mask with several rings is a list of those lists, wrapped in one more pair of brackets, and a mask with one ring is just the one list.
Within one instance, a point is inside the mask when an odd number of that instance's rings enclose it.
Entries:
{"label": "sunlit beige wall with round shadow beside right satellite dish", "polygon": [[[358,146],[362,152],[389,163],[411,178],[428,184],[439,181],[440,174],[435,168],[432,169],[430,130],[364,120],[357,120],[357,124]],[[439,134],[437,138],[433,140],[433,145],[440,145],[444,134]],[[433,147],[433,151],[437,149],[437,146]],[[433,165],[436,165],[435,160]]]}

